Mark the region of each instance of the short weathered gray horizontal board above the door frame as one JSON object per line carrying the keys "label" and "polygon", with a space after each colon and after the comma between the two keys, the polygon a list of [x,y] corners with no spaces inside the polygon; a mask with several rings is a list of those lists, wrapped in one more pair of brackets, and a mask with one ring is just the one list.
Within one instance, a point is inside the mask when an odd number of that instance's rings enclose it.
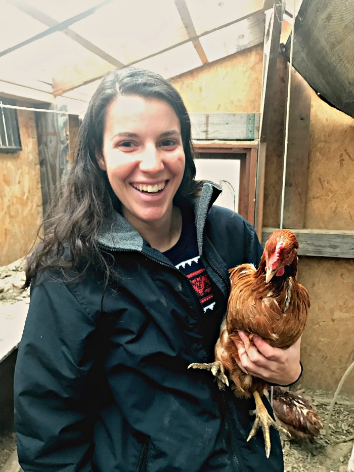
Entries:
{"label": "short weathered gray horizontal board above the door frame", "polygon": [[193,139],[254,140],[259,113],[191,113]]}

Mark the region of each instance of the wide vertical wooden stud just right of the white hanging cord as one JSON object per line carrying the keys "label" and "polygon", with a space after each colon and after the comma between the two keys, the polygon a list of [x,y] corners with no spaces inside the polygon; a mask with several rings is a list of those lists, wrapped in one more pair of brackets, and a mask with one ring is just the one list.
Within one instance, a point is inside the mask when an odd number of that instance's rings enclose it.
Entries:
{"label": "wide vertical wooden stud just right of the white hanging cord", "polygon": [[311,87],[292,69],[283,217],[285,228],[303,228],[305,223],[311,95]]}

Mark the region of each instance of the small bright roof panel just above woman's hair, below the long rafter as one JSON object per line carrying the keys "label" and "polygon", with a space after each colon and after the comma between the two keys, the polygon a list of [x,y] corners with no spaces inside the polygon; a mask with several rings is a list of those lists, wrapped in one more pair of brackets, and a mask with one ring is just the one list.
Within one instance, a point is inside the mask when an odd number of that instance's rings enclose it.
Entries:
{"label": "small bright roof panel just above woman's hair, below the long rafter", "polygon": [[152,70],[165,78],[183,74],[202,65],[194,46],[187,42],[182,46],[158,54],[150,59],[135,64],[135,67]]}

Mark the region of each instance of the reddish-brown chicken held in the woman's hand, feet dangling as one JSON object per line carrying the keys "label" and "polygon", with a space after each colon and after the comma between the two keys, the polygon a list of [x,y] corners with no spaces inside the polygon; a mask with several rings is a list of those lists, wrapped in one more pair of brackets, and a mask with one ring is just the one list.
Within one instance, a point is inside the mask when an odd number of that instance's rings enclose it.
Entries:
{"label": "reddish-brown chicken held in the woman's hand, feet dangling", "polygon": [[[283,430],[268,414],[261,395],[267,382],[243,372],[235,341],[242,342],[238,330],[252,339],[254,334],[276,348],[289,348],[301,336],[310,306],[307,290],[296,281],[298,242],[289,230],[272,233],[264,246],[256,269],[242,264],[230,269],[231,292],[228,310],[214,349],[215,361],[193,363],[189,368],[211,370],[219,389],[229,385],[238,397],[253,395],[256,415],[249,441],[261,425],[267,458],[271,451],[269,427]],[[227,373],[227,375],[226,375]]]}

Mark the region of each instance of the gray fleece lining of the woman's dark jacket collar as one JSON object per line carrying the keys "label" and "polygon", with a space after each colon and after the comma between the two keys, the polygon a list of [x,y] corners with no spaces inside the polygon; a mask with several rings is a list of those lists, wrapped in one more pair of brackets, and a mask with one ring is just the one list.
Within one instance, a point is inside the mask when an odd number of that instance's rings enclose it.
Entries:
{"label": "gray fleece lining of the woman's dark jacket collar", "polygon": [[[200,197],[196,199],[194,211],[199,254],[202,254],[203,233],[208,210],[220,192],[221,187],[212,182],[206,182],[203,185]],[[144,239],[121,214],[114,211],[111,218],[104,223],[98,237],[98,243],[109,249],[141,251]]]}

